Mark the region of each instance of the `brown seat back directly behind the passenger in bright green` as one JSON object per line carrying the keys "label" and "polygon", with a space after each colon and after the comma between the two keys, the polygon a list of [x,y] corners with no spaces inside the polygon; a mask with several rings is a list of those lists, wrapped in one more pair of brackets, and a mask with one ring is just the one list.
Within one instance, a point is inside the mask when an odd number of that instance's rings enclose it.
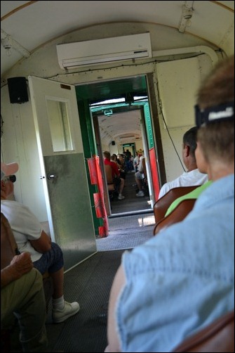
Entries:
{"label": "brown seat back directly behind the passenger in bright green", "polygon": [[196,198],[187,198],[182,200],[175,209],[168,214],[168,216],[163,217],[161,221],[155,224],[154,226],[154,236],[156,236],[159,231],[170,224],[177,223],[182,221],[187,214],[193,209]]}

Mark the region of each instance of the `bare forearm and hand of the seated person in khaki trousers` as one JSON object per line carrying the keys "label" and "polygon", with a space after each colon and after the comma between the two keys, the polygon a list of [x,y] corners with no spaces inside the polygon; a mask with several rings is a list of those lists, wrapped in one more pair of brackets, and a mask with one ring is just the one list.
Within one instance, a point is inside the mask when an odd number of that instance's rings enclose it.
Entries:
{"label": "bare forearm and hand of the seated person in khaki trousers", "polygon": [[15,255],[4,269],[1,269],[1,288],[27,274],[34,267],[29,252]]}

